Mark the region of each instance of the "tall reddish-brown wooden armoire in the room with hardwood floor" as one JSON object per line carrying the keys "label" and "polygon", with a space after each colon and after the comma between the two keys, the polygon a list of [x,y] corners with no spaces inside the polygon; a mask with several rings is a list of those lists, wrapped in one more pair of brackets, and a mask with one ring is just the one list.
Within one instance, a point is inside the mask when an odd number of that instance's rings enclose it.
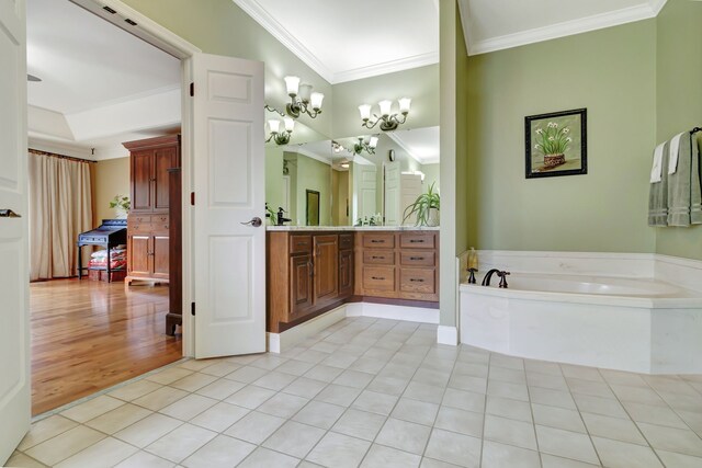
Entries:
{"label": "tall reddish-brown wooden armoire in the room with hardwood floor", "polygon": [[[128,284],[134,279],[168,282],[171,256],[169,181],[172,178],[169,169],[180,167],[180,135],[123,145],[131,155],[132,197],[127,219],[125,281]],[[180,209],[180,206],[176,206],[176,209]],[[180,229],[179,219],[177,229]]]}

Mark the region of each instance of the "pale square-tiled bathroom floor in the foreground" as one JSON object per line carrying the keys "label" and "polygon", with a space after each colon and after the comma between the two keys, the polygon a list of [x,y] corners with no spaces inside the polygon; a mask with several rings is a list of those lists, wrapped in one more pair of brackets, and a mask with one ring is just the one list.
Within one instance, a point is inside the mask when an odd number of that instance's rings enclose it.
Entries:
{"label": "pale square-tiled bathroom floor in the foreground", "polygon": [[346,319],[281,355],[186,361],[36,422],[20,467],[702,467],[702,376],[437,345]]}

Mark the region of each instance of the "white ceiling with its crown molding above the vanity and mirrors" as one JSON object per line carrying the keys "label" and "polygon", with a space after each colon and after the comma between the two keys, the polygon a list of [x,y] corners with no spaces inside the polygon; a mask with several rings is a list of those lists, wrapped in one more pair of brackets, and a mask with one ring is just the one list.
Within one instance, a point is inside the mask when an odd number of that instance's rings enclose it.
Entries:
{"label": "white ceiling with its crown molding above the vanity and mirrors", "polygon": [[330,83],[439,61],[439,0],[234,0]]}

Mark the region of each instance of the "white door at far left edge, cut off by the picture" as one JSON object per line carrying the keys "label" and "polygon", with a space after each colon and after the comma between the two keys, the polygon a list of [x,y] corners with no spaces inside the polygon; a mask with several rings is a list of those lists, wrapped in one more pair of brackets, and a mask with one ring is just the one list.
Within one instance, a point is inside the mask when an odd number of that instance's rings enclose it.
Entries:
{"label": "white door at far left edge, cut off by the picture", "polygon": [[0,0],[0,466],[30,429],[24,0]]}

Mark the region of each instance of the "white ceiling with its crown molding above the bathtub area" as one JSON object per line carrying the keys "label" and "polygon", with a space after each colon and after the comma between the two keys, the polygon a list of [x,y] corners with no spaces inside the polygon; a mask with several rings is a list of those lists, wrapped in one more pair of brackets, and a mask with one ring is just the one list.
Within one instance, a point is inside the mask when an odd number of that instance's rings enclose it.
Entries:
{"label": "white ceiling with its crown molding above the bathtub area", "polygon": [[654,18],[667,0],[458,0],[468,55]]}

